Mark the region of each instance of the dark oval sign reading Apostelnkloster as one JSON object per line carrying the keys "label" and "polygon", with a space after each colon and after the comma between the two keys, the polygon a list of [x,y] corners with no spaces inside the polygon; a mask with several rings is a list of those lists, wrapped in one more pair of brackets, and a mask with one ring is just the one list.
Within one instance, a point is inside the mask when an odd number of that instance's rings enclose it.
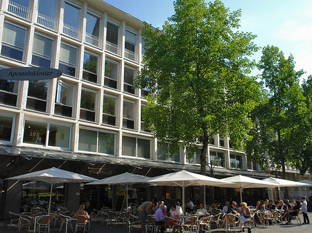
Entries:
{"label": "dark oval sign reading Apostelnkloster", "polygon": [[49,80],[61,75],[62,71],[46,67],[15,67],[0,70],[0,80]]}

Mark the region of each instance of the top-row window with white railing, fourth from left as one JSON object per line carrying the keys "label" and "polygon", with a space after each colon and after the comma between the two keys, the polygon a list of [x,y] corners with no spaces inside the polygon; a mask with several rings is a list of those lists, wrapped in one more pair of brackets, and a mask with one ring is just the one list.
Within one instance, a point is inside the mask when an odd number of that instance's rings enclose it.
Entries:
{"label": "top-row window with white railing, fourth from left", "polygon": [[100,19],[98,15],[92,12],[87,12],[87,26],[85,33],[85,41],[94,46],[99,46],[99,35],[100,35]]}

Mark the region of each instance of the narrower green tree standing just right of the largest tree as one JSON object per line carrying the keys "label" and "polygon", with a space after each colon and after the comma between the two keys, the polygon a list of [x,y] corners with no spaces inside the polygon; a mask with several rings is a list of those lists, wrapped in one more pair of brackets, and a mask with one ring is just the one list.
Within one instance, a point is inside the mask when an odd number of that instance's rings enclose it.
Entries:
{"label": "narrower green tree standing just right of the largest tree", "polygon": [[309,112],[300,87],[304,71],[295,71],[293,56],[286,59],[275,46],[266,46],[262,53],[259,70],[263,98],[252,112],[255,127],[250,131],[252,139],[247,142],[246,152],[263,168],[268,167],[268,160],[276,163],[286,178],[286,164],[297,166],[309,138]]}

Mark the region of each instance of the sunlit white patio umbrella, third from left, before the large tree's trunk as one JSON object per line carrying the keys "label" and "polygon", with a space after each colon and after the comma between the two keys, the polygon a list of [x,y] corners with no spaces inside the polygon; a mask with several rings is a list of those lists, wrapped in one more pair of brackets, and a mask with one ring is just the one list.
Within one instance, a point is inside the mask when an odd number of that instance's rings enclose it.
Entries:
{"label": "sunlit white patio umbrella, third from left, before the large tree's trunk", "polygon": [[185,212],[185,187],[206,185],[206,186],[217,186],[227,187],[232,185],[227,181],[218,180],[211,178],[210,176],[202,176],[200,174],[192,173],[189,171],[177,171],[171,174],[165,174],[162,176],[156,176],[151,178],[148,183],[152,185],[163,185],[163,186],[179,186],[182,187],[182,205],[183,211]]}

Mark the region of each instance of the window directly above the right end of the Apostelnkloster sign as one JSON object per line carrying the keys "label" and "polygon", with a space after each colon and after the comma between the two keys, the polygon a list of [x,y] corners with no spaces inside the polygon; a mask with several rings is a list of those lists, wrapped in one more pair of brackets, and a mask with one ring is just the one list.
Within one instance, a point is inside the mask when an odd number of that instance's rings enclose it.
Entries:
{"label": "window directly above the right end of the Apostelnkloster sign", "polygon": [[33,38],[33,59],[31,63],[35,66],[51,66],[53,39],[35,33]]}

